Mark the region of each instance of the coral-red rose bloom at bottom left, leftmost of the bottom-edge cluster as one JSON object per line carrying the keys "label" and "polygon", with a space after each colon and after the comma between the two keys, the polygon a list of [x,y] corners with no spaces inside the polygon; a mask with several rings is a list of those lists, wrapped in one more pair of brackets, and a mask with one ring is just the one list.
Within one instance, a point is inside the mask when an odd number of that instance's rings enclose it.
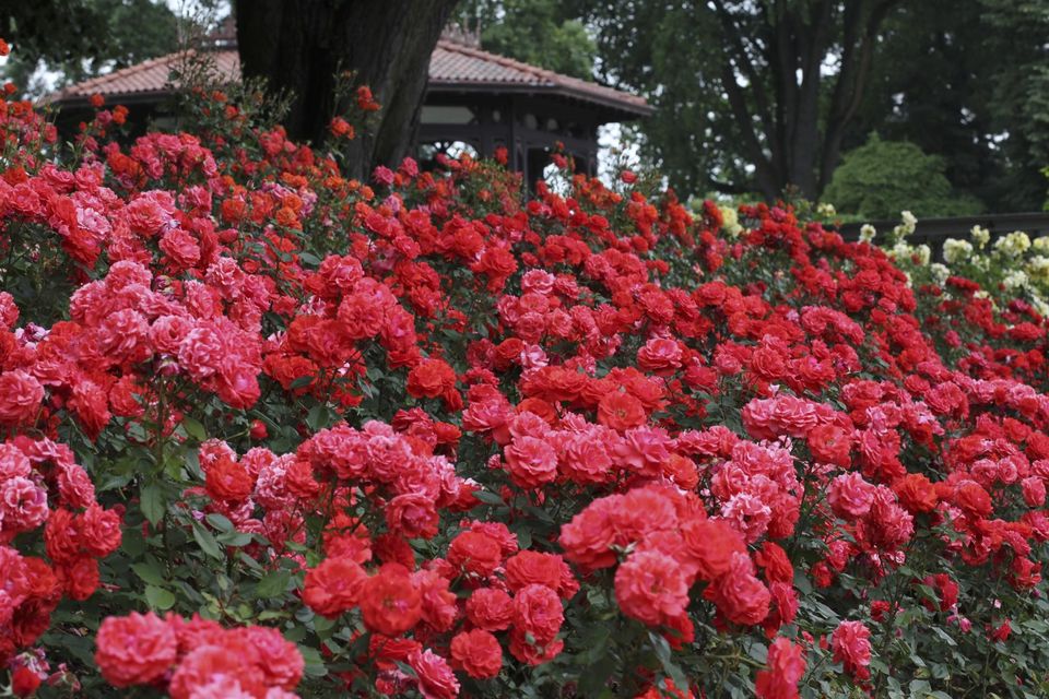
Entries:
{"label": "coral-red rose bloom at bottom left, leftmost of the bottom-edge cluster", "polygon": [[149,684],[163,676],[178,656],[175,629],[152,612],[106,617],[95,645],[102,676],[115,687]]}

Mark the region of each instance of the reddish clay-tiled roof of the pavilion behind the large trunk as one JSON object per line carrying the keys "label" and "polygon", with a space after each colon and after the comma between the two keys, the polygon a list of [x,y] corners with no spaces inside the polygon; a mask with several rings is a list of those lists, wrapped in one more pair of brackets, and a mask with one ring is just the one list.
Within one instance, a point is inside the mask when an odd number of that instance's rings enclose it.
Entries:
{"label": "reddish clay-tiled roof of the pavilion behind the large trunk", "polygon": [[[115,102],[120,98],[148,97],[168,92],[170,71],[182,55],[169,54],[130,68],[114,71],[70,85],[52,95],[56,103],[74,103],[99,94]],[[215,69],[220,76],[236,80],[240,59],[236,49],[216,50]],[[429,59],[429,90],[481,90],[534,92],[563,95],[582,102],[611,107],[634,116],[651,112],[644,97],[597,83],[569,78],[529,66],[510,58],[490,54],[456,42],[441,39]]]}

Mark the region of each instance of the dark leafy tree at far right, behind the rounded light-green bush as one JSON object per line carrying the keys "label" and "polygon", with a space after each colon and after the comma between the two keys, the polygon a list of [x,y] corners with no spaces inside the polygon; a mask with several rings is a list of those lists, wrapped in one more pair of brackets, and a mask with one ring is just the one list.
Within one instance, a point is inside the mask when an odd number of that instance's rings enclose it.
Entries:
{"label": "dark leafy tree at far right, behind the rounded light-green bush", "polygon": [[928,0],[885,22],[846,147],[871,130],[943,157],[991,211],[1035,211],[1049,164],[1049,1]]}

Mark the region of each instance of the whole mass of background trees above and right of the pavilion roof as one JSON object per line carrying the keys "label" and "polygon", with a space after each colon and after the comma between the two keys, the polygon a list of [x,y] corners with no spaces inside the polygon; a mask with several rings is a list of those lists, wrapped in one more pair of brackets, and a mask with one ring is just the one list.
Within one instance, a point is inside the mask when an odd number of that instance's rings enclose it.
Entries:
{"label": "whole mass of background trees above and right of the pavilion roof", "polygon": [[597,75],[658,107],[634,131],[681,191],[775,198],[794,186],[817,197],[840,154],[879,131],[940,156],[963,208],[971,197],[992,211],[1044,199],[1049,0],[514,4],[490,13],[498,26],[485,35],[520,40],[486,46],[556,69],[535,47],[581,20]]}

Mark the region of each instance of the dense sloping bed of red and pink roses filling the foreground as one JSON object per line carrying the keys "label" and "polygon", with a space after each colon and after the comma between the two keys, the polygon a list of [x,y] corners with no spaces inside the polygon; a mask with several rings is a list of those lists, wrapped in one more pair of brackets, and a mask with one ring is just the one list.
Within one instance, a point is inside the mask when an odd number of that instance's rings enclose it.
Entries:
{"label": "dense sloping bed of red and pink roses filling the foreground", "polygon": [[1049,690],[1028,304],[629,174],[346,180],[349,121],[198,106],[62,149],[0,103],[16,696]]}

